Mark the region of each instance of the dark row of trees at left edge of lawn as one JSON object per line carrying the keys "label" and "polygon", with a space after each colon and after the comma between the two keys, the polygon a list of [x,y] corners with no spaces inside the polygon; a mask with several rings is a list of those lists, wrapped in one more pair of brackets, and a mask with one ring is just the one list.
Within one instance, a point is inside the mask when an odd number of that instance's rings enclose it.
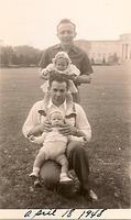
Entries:
{"label": "dark row of trees at left edge of lawn", "polygon": [[0,66],[1,67],[29,67],[39,66],[42,51],[32,46],[1,46]]}

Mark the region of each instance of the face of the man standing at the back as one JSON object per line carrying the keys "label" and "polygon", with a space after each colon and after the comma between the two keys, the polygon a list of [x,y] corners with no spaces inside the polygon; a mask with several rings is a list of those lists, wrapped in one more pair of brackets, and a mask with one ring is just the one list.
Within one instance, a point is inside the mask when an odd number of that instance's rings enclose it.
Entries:
{"label": "face of the man standing at the back", "polygon": [[57,36],[62,44],[70,44],[76,36],[74,25],[70,23],[59,24]]}

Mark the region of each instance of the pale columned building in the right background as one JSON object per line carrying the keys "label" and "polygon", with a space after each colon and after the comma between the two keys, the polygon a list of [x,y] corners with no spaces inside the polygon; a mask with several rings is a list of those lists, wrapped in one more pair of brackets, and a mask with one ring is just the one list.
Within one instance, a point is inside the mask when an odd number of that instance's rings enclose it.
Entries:
{"label": "pale columned building in the right background", "polygon": [[131,34],[122,34],[116,41],[76,41],[85,50],[92,64],[121,64],[131,62]]}

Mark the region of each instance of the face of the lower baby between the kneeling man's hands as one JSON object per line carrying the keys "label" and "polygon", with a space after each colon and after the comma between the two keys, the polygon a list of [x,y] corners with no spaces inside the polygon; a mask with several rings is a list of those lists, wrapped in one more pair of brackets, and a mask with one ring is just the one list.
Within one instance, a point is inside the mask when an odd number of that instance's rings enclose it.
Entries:
{"label": "face of the lower baby between the kneeling man's hands", "polygon": [[53,127],[58,127],[64,123],[63,116],[59,112],[52,113],[50,121]]}

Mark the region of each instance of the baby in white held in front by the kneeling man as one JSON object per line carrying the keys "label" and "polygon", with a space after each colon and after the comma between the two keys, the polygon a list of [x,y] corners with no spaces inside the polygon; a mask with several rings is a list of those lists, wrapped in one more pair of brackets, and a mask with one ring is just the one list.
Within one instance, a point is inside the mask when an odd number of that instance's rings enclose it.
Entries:
{"label": "baby in white held in front by the kneeling man", "polygon": [[58,128],[64,124],[64,118],[61,111],[55,110],[50,113],[48,121],[52,124],[53,130],[51,132],[43,132],[41,136],[30,136],[30,141],[37,144],[43,144],[33,165],[33,173],[31,177],[37,177],[40,168],[44,161],[54,160],[61,166],[59,182],[70,182],[67,176],[68,162],[65,155],[68,138],[58,132]]}

